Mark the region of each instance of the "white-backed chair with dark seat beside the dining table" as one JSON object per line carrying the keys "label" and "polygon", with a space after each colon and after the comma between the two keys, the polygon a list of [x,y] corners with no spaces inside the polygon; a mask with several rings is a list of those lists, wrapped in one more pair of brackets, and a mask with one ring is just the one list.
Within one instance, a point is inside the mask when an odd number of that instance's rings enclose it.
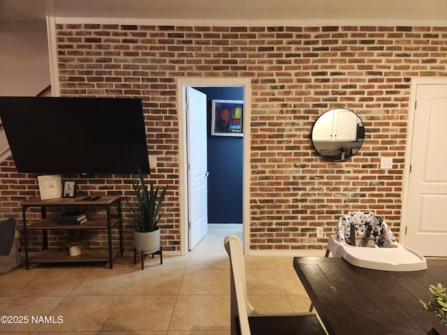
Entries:
{"label": "white-backed chair with dark seat beside the dining table", "polygon": [[315,313],[258,313],[247,299],[245,260],[240,240],[224,241],[230,258],[231,335],[325,335]]}

